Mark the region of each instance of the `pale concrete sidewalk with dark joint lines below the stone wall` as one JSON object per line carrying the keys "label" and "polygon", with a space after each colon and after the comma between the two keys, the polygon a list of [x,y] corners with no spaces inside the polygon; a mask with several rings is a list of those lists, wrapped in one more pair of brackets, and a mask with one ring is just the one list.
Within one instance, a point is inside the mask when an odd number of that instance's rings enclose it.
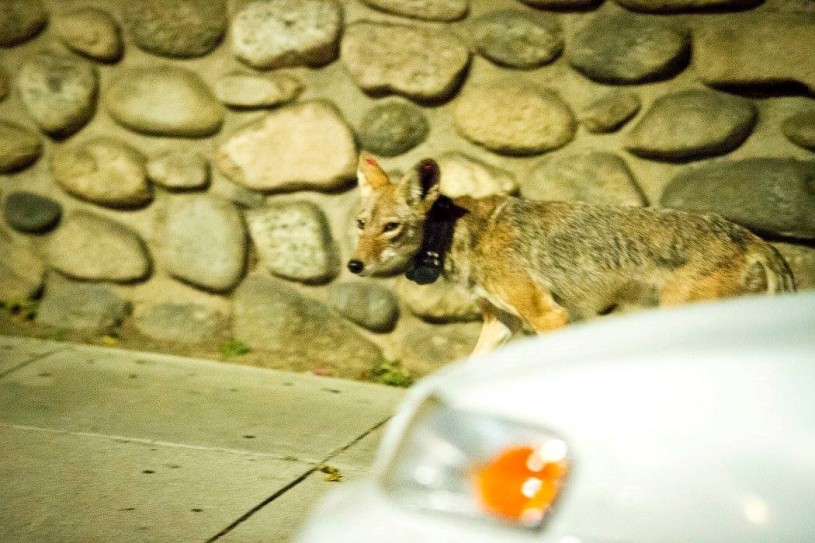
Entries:
{"label": "pale concrete sidewalk with dark joint lines below the stone wall", "polygon": [[0,541],[284,542],[402,391],[0,336]]}

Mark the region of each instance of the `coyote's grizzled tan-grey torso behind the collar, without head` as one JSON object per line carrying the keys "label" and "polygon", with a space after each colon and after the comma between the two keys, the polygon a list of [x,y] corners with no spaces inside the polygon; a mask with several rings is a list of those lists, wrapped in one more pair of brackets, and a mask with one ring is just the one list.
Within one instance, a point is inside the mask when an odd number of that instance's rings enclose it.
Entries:
{"label": "coyote's grizzled tan-grey torso behind the collar, without head", "polygon": [[471,210],[463,219],[471,236],[454,247],[452,259],[468,261],[473,277],[465,282],[495,290],[528,275],[568,321],[633,306],[795,290],[775,248],[718,216],[509,197],[458,203]]}

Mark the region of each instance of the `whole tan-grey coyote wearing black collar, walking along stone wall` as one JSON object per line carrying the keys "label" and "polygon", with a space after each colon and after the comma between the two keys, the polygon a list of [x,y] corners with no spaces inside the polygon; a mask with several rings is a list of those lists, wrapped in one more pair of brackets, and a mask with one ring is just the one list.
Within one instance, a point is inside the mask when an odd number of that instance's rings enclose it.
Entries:
{"label": "whole tan-grey coyote wearing black collar, walking along stone wall", "polygon": [[792,292],[772,246],[716,215],[577,202],[441,195],[439,167],[419,162],[392,182],[359,160],[359,243],[351,272],[444,273],[484,315],[473,355],[524,325],[545,332],[596,315],[741,294]]}

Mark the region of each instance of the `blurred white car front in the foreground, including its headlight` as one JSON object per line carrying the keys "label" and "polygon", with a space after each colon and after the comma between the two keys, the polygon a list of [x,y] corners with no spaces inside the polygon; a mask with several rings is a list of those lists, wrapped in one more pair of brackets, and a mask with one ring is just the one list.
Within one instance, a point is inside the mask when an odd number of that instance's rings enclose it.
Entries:
{"label": "blurred white car front in the foreground, including its headlight", "polygon": [[815,293],[599,319],[449,366],[296,541],[815,541]]}

